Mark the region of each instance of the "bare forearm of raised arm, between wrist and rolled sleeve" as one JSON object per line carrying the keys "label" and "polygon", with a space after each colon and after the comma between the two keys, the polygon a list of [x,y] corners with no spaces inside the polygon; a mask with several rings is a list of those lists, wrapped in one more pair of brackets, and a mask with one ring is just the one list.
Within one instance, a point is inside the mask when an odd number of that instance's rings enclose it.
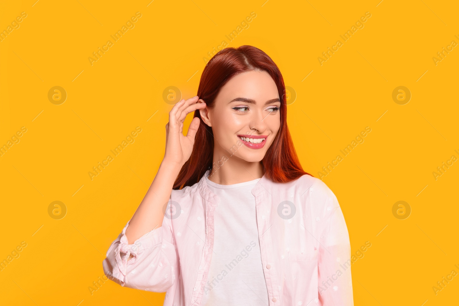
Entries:
{"label": "bare forearm of raised arm, between wrist and rolled sleeve", "polygon": [[158,172],[144,199],[134,213],[126,229],[129,244],[134,243],[153,228],[159,228],[164,218],[163,206],[168,202],[181,166],[162,160]]}

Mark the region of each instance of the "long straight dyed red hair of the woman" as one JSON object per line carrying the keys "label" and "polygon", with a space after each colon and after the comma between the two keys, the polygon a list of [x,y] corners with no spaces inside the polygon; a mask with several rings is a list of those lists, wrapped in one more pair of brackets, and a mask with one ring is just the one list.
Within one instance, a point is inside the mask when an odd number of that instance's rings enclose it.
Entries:
{"label": "long straight dyed red hair of the woman", "polygon": [[[262,50],[243,45],[238,48],[225,48],[219,51],[210,61],[201,75],[197,95],[204,100],[207,107],[212,108],[220,88],[235,75],[251,70],[266,71],[276,83],[280,101],[280,129],[273,144],[267,150],[262,165],[267,178],[274,182],[286,183],[295,180],[304,172],[293,146],[287,127],[287,105],[285,104],[284,78],[274,61]],[[180,169],[173,189],[182,189],[197,183],[204,173],[212,168],[213,163],[213,131],[201,119],[199,110],[194,117],[200,118],[196,132],[195,144],[188,161]],[[313,176],[313,175],[311,175]]]}

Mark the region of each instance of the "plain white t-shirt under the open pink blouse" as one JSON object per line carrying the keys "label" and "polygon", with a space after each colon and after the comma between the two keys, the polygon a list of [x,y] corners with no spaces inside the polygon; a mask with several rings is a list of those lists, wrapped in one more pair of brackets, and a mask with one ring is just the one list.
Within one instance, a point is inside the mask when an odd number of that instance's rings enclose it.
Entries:
{"label": "plain white t-shirt under the open pink blouse", "polygon": [[260,179],[232,185],[206,183],[220,202],[202,306],[269,305],[258,239],[255,197]]}

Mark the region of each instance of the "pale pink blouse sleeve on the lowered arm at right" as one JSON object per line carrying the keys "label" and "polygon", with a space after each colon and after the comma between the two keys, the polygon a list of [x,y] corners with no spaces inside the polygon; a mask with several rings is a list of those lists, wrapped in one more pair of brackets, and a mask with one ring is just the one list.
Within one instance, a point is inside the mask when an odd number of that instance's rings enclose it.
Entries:
{"label": "pale pink blouse sleeve on the lowered arm at right", "polygon": [[351,246],[341,207],[331,192],[324,207],[318,253],[319,300],[323,306],[352,306]]}

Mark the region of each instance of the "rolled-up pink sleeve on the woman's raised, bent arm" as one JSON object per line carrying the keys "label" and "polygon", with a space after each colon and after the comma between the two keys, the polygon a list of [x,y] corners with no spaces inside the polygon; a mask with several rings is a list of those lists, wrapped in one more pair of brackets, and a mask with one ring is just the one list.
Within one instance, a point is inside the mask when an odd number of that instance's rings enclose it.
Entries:
{"label": "rolled-up pink sleeve on the woman's raised, bent arm", "polygon": [[[130,222],[130,220],[129,220]],[[102,262],[104,273],[114,282],[129,288],[165,292],[178,273],[178,253],[168,218],[162,226],[128,243],[126,228],[112,242]]]}

